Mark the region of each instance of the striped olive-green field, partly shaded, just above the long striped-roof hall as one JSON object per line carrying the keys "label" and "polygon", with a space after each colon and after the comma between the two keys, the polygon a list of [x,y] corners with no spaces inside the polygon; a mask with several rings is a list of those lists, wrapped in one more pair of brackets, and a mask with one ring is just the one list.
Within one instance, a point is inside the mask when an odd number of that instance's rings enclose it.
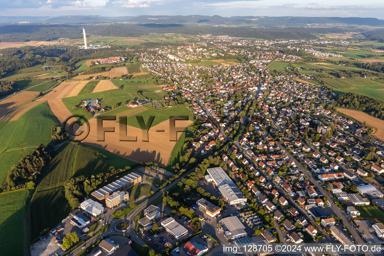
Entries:
{"label": "striped olive-green field, partly shaded, just above the long striped-roof hall", "polygon": [[88,177],[108,172],[110,166],[124,168],[135,164],[110,152],[107,153],[106,150],[99,152],[84,144],[66,143],[59,150],[58,154],[41,171],[45,176],[36,191],[63,186],[70,178],[81,175]]}

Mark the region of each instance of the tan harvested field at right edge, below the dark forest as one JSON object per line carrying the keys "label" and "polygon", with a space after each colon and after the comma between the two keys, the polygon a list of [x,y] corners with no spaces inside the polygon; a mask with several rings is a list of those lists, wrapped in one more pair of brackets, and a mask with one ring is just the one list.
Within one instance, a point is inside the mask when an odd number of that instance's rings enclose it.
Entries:
{"label": "tan harvested field at right edge, below the dark forest", "polygon": [[353,119],[356,119],[359,122],[363,123],[364,121],[366,121],[367,126],[376,128],[376,131],[371,135],[375,136],[377,139],[384,140],[384,121],[383,120],[370,116],[366,113],[351,110],[351,109],[337,108],[337,110],[347,116],[352,117]]}

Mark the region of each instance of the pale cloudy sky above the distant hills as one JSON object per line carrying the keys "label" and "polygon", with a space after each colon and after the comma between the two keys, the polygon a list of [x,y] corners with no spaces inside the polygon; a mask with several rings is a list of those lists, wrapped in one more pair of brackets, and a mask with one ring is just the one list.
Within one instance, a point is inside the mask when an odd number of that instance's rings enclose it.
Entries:
{"label": "pale cloudy sky above the distant hills", "polygon": [[4,0],[1,7],[1,16],[199,14],[384,19],[383,0]]}

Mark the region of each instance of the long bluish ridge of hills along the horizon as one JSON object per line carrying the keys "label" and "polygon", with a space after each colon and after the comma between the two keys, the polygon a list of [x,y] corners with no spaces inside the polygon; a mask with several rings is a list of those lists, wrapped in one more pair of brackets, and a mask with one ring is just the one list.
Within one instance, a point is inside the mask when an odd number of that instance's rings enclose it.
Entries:
{"label": "long bluish ridge of hills along the horizon", "polygon": [[326,24],[341,23],[343,25],[369,25],[384,26],[384,20],[377,18],[359,18],[359,17],[267,17],[267,16],[234,16],[221,17],[218,15],[174,15],[174,16],[152,16],[140,15],[119,16],[119,17],[103,17],[99,15],[66,15],[59,17],[12,17],[0,16],[0,23],[18,23],[20,21],[41,22],[45,23],[65,23],[65,24],[89,24],[89,23],[111,23],[111,22],[132,22],[136,24],[157,23],[157,24],[193,24],[193,25],[259,25],[259,26],[305,26],[307,24]]}

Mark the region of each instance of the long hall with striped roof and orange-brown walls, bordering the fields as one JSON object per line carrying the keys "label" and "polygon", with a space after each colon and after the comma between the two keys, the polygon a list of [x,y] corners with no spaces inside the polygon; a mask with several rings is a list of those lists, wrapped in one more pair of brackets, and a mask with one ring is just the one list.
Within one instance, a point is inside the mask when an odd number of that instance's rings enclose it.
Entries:
{"label": "long hall with striped roof and orange-brown walls, bordering the fields", "polygon": [[98,201],[104,201],[107,197],[112,195],[113,192],[126,190],[127,188],[132,187],[133,185],[141,181],[141,175],[132,172],[92,192],[91,196]]}

